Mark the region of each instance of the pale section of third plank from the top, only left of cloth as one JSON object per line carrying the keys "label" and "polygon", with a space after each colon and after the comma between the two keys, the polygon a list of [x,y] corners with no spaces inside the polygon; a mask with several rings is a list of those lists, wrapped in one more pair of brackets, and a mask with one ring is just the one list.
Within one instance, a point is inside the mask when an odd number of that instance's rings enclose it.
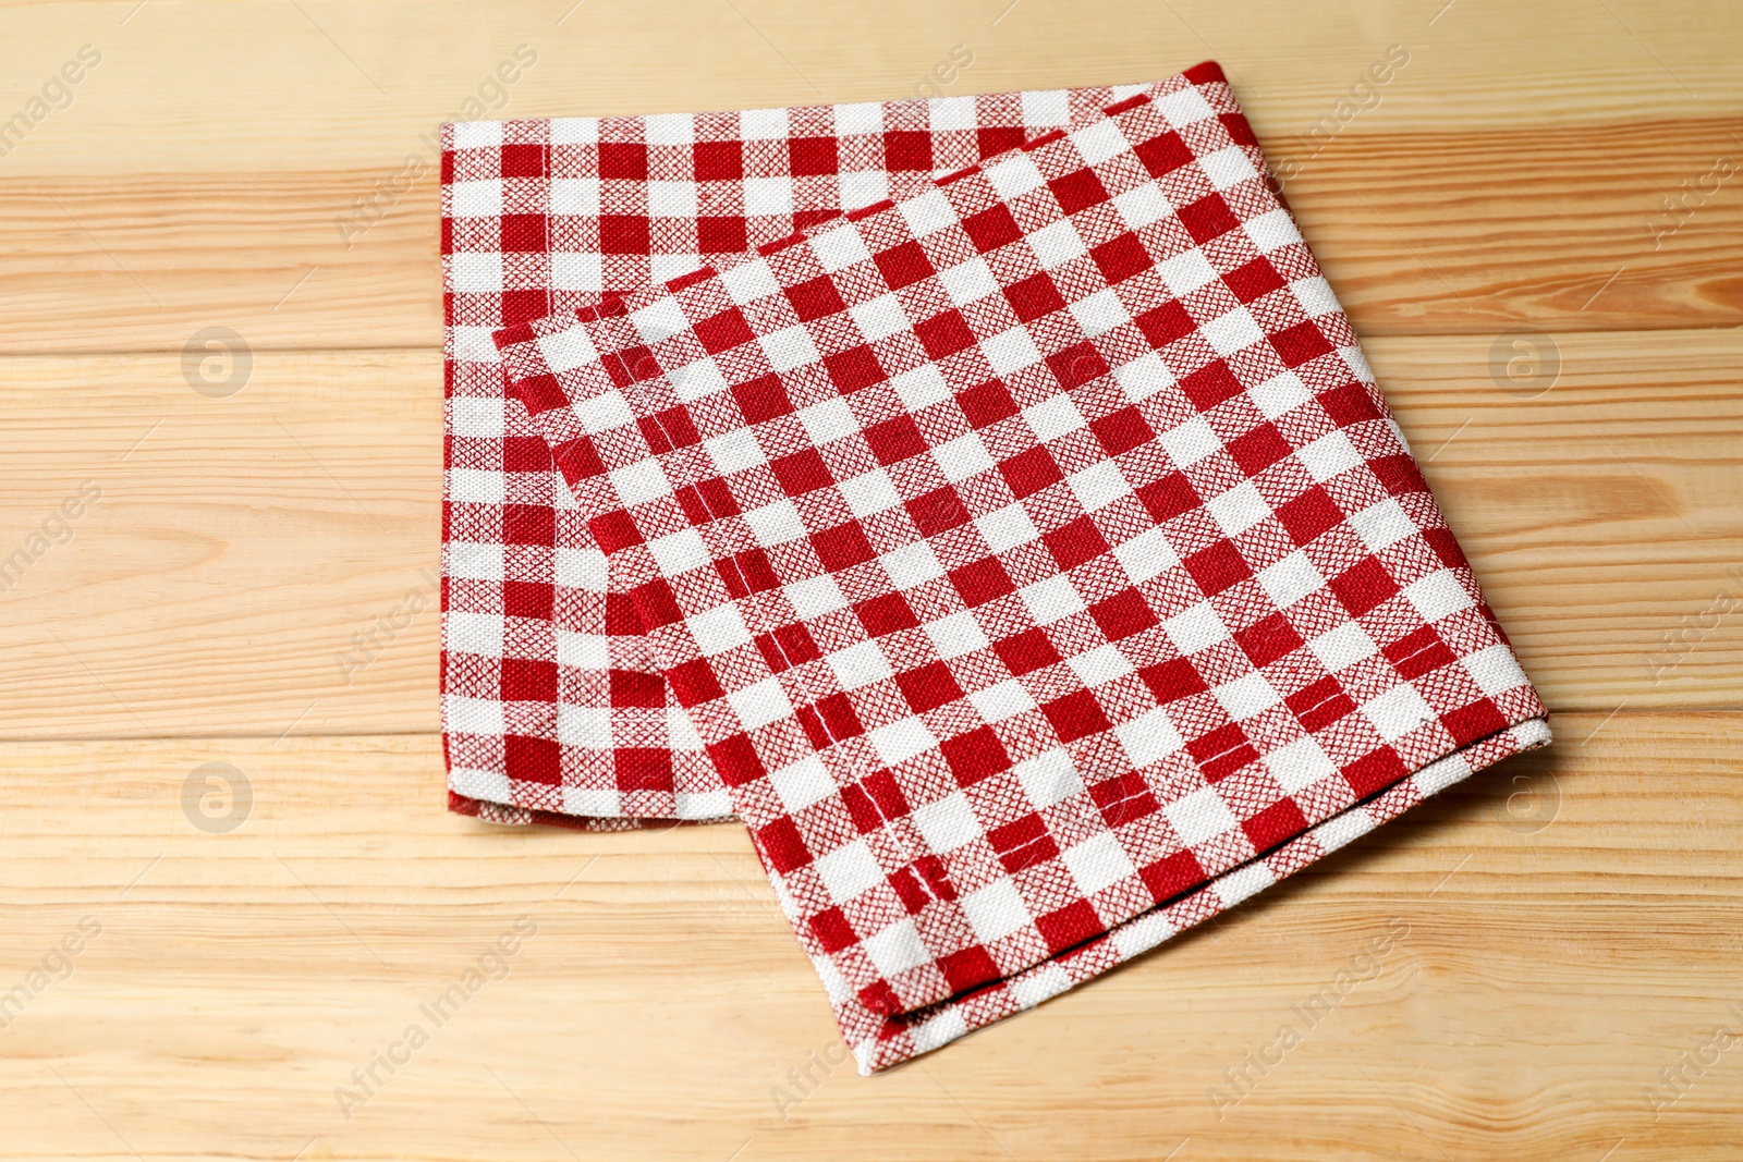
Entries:
{"label": "pale section of third plank from the top, only left of cloth", "polygon": [[[192,390],[176,355],[3,364],[21,484],[0,544],[82,481],[103,490],[0,596],[0,641],[40,665],[9,674],[5,732],[436,728],[434,352],[263,352],[225,399]],[[354,641],[408,617],[380,648]]]}

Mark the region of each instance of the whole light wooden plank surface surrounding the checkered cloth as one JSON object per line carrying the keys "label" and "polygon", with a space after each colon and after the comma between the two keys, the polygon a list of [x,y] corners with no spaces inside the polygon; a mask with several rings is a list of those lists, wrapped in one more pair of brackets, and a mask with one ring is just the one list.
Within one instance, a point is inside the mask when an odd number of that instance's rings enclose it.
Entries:
{"label": "whole light wooden plank surface surrounding the checkered cloth", "polygon": [[[0,556],[103,493],[0,594],[0,995],[49,969],[0,1010],[0,1159],[1743,1159],[1736,5],[17,2],[0,120],[84,44],[0,157]],[[436,183],[335,218],[519,44],[497,115],[903,96],[957,44],[950,92],[1222,59],[1556,744],[1016,1021],[816,1066],[739,829],[448,815],[436,615],[335,662],[436,564]],[[209,326],[228,397],[183,373]],[[1550,390],[1497,383],[1508,331]],[[206,763],[234,831],[183,808]]]}

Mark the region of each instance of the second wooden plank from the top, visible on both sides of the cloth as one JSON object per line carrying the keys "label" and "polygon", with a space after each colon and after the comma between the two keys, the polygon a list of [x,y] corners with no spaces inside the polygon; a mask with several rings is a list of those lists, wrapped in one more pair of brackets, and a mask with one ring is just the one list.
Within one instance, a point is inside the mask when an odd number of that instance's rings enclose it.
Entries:
{"label": "second wooden plank from the top, visible on both sides of the cloth", "polygon": [[[1740,132],[1349,132],[1288,199],[1361,334],[1738,326],[1743,192],[1720,186],[1675,232],[1661,199],[1717,157],[1743,164]],[[439,345],[434,179],[349,246],[338,226],[396,169],[0,178],[0,209],[28,228],[0,256],[0,300],[23,307],[0,314],[0,345],[181,350],[214,322],[256,348]]]}

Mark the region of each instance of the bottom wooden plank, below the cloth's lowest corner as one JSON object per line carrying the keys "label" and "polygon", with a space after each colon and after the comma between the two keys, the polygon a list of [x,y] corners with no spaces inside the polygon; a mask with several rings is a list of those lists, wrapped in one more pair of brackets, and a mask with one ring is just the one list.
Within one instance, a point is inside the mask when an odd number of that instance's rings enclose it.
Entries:
{"label": "bottom wooden plank, below the cloth's lowest corner", "polygon": [[[1743,716],[1555,728],[1220,923],[870,1080],[816,1064],[821,990],[736,826],[493,829],[443,812],[429,737],[5,744],[0,979],[85,916],[101,934],[0,1031],[0,1159],[1731,1157],[1731,1052],[1656,1117],[1649,1091],[1740,1023]],[[253,794],[223,834],[180,801],[213,761]],[[436,1028],[420,1005],[518,916],[537,934],[507,976]],[[413,1023],[429,1045],[345,1118],[335,1089]],[[1265,1049],[1285,1024],[1300,1044]],[[1243,1064],[1260,1051],[1281,1061]]]}

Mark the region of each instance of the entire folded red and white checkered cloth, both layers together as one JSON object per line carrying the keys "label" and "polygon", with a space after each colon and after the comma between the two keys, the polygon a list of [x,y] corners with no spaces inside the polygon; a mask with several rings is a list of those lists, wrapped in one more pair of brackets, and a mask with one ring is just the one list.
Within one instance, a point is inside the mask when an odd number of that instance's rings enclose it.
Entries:
{"label": "entire folded red and white checkered cloth, both layers together", "polygon": [[450,803],[741,819],[861,1071],[1548,742],[1215,64],[446,148]]}

